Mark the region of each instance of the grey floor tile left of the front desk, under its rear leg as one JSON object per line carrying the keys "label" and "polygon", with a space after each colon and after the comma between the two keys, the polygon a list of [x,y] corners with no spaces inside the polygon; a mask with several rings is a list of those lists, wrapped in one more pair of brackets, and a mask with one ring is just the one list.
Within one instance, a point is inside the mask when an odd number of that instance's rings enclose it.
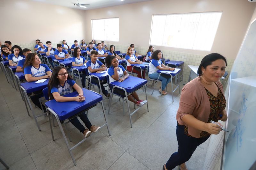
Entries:
{"label": "grey floor tile left of the front desk, under its rear leg", "polygon": [[[17,126],[20,130],[26,146],[28,147],[29,153],[33,153],[36,150],[52,142],[52,135],[48,118],[42,116],[37,119],[41,131],[38,130],[36,122],[32,117],[28,117],[17,122]],[[57,124],[56,121],[55,123]],[[62,136],[59,126],[53,128],[53,134],[55,139]]]}

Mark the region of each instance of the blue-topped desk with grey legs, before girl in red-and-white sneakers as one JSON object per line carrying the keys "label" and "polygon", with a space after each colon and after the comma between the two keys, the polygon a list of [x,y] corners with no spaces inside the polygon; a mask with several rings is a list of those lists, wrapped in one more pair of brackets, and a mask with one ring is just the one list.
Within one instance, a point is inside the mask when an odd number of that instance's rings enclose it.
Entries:
{"label": "blue-topped desk with grey legs, before girl in red-and-white sneakers", "polygon": [[[118,81],[114,81],[112,83],[110,83],[111,86],[113,86],[112,88],[112,92],[110,94],[110,100],[109,100],[109,108],[108,108],[108,114],[109,114],[109,110],[111,107],[111,101],[112,101],[112,97],[113,95],[115,95],[114,89],[121,89],[124,90],[125,92],[125,97],[126,100],[128,99],[128,95],[132,94],[133,92],[137,91],[138,89],[140,89],[141,87],[145,86],[145,94],[146,94],[146,100],[148,100],[148,96],[147,96],[147,88],[146,88],[146,84],[147,84],[148,80],[143,79],[143,78],[137,78],[137,77],[133,77],[133,76],[129,76],[128,78],[126,78],[123,82],[118,82]],[[118,96],[118,95],[117,95]],[[120,96],[118,96],[120,97]],[[134,110],[132,113],[130,111],[130,107],[129,107],[129,101],[126,102],[127,106],[128,106],[128,111],[129,111],[129,117],[130,117],[130,123],[131,123],[131,127],[132,127],[132,118],[131,116],[136,113],[140,108],[142,107],[138,107],[136,110]],[[134,105],[135,108],[135,105]],[[148,102],[147,102],[147,108],[148,108]],[[123,112],[124,112],[124,99],[123,99]]]}

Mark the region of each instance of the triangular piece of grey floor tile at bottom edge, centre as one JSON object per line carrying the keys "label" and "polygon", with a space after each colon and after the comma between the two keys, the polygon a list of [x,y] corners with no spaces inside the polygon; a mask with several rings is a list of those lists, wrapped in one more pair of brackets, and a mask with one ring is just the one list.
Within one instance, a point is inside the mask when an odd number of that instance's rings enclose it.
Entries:
{"label": "triangular piece of grey floor tile at bottom edge, centre", "polygon": [[108,170],[149,170],[128,152],[124,154]]}

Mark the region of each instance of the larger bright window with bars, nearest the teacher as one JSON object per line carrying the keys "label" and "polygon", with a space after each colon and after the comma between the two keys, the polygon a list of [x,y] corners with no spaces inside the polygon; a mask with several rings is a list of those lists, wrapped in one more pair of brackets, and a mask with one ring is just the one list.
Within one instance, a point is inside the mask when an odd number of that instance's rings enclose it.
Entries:
{"label": "larger bright window with bars, nearest the teacher", "polygon": [[150,44],[210,51],[221,14],[153,15]]}

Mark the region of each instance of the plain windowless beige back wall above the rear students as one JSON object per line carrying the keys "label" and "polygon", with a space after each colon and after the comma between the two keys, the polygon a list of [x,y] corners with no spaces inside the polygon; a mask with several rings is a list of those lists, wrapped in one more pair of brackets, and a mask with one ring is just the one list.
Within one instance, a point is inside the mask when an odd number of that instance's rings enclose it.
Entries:
{"label": "plain windowless beige back wall above the rear students", "polygon": [[12,43],[34,43],[40,39],[45,43],[84,39],[82,10],[30,0],[3,0],[0,11],[2,43],[6,40]]}

